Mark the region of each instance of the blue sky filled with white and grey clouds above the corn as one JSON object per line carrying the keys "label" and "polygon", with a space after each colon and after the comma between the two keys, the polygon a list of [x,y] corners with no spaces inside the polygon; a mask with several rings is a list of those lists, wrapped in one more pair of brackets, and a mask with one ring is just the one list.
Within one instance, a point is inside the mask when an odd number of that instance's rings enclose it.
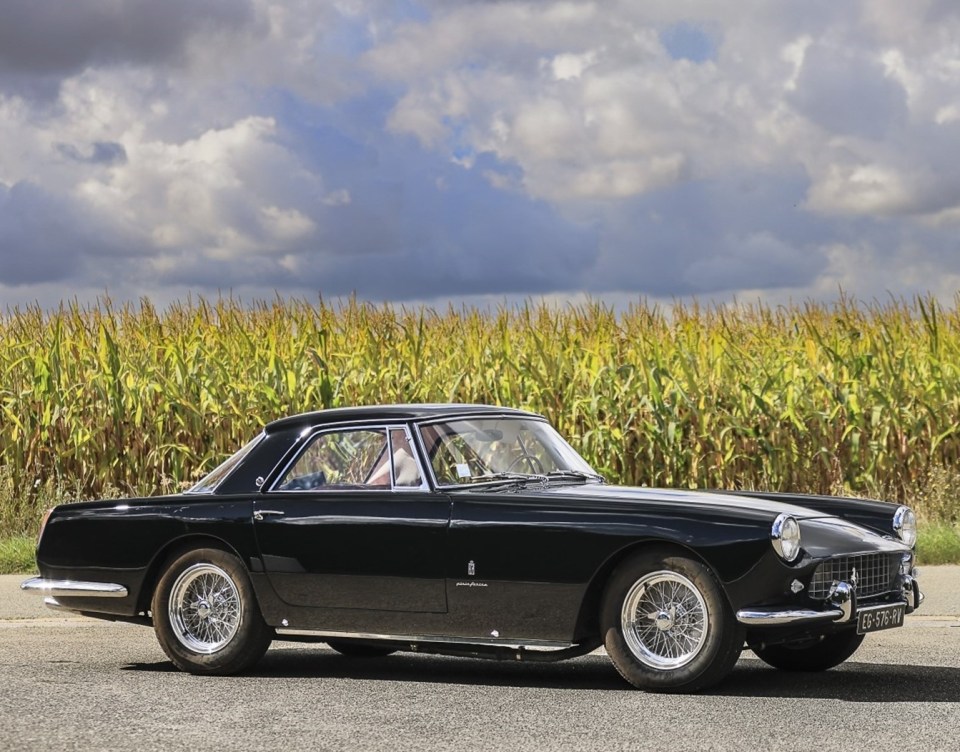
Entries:
{"label": "blue sky filled with white and grey clouds above the corn", "polygon": [[0,311],[960,290],[955,0],[4,0]]}

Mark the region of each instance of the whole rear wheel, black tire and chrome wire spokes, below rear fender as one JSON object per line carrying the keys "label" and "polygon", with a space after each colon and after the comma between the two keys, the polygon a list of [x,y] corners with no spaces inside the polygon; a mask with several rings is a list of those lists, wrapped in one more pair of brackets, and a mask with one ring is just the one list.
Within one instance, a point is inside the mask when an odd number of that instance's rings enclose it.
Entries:
{"label": "whole rear wheel, black tire and chrome wire spokes, below rear fender", "polygon": [[216,548],[176,556],[153,593],[152,611],[163,652],[191,674],[246,671],[273,639],[243,564]]}

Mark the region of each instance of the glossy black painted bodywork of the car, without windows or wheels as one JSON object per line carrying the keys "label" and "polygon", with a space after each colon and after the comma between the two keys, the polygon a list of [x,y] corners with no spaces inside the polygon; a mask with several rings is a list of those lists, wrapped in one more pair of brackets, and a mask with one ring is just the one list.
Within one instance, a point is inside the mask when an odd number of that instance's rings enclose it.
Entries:
{"label": "glossy black painted bodywork of the car, without windows or wheels", "polygon": [[[558,481],[524,488],[270,492],[304,429],[408,424],[466,414],[529,413],[474,405],[354,408],[270,423],[213,494],[69,504],[54,510],[37,560],[49,579],[116,582],[123,599],[60,598],[107,618],[145,614],[165,563],[185,547],[233,551],[273,626],[328,632],[586,642],[606,578],[648,546],[699,558],[734,610],[804,605],[790,591],[826,557],[906,552],[895,507],[833,497],[622,488]],[[427,463],[424,463],[426,466]],[[255,521],[255,512],[264,515]],[[773,551],[781,513],[801,524],[793,565]],[[846,521],[837,519],[844,518]]]}

